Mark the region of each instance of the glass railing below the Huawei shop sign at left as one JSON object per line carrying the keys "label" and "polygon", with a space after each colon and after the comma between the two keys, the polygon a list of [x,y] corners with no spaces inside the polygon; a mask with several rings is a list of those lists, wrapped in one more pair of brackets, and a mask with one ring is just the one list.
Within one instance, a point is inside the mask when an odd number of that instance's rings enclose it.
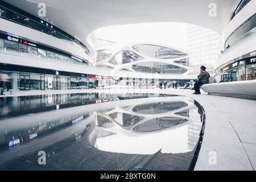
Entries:
{"label": "glass railing below the Huawei shop sign at left", "polygon": [[29,57],[32,59],[49,61],[52,63],[67,64],[67,65],[79,65],[80,67],[89,67],[89,65],[87,65],[85,63],[81,63],[80,61],[44,57],[44,56],[40,56],[40,55],[36,55],[36,54],[32,54],[32,53],[13,51],[13,50],[2,48],[2,47],[0,47],[0,53],[5,53],[5,54],[15,55],[15,56],[22,56],[22,57]]}

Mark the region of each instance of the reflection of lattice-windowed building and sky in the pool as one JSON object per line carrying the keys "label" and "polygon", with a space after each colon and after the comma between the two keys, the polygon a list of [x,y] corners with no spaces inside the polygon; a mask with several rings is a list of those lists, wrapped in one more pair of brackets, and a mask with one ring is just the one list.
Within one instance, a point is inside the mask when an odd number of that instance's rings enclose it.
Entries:
{"label": "reflection of lattice-windowed building and sky in the pool", "polygon": [[158,102],[150,98],[137,102],[141,104],[97,111],[96,129],[89,136],[92,145],[102,151],[143,155],[160,148],[165,154],[194,150],[202,123],[193,100],[159,97]]}

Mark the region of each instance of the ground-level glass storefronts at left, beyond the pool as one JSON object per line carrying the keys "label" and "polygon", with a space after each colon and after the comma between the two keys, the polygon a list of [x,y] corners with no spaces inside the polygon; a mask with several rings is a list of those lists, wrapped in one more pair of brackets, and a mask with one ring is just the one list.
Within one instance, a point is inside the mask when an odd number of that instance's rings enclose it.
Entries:
{"label": "ground-level glass storefronts at left, beyond the pool", "polygon": [[2,64],[0,74],[10,78],[11,90],[88,89],[86,74],[81,73]]}

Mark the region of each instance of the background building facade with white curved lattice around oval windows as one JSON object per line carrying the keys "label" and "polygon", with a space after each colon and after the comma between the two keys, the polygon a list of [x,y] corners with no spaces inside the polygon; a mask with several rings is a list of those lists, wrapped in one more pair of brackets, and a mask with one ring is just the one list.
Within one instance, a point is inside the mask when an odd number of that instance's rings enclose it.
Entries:
{"label": "background building facade with white curved lattice around oval windows", "polygon": [[97,65],[141,73],[188,75],[188,53],[166,46],[134,44],[118,51],[102,49],[97,51]]}

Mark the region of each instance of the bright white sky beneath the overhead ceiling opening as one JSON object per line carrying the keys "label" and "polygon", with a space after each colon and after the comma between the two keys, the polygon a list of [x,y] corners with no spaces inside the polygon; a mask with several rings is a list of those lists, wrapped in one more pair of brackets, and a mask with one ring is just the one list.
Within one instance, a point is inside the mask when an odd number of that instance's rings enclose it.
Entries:
{"label": "bright white sky beneath the overhead ceiling opening", "polygon": [[187,49],[185,23],[142,23],[104,27],[95,31],[96,38],[118,43],[152,42]]}

